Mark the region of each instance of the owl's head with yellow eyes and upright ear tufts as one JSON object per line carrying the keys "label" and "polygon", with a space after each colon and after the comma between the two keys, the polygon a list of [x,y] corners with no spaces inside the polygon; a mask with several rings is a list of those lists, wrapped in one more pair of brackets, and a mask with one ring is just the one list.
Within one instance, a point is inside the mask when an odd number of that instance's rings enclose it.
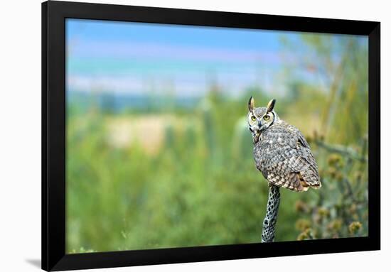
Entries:
{"label": "owl's head with yellow eyes and upright ear tufts", "polygon": [[256,108],[254,98],[250,97],[248,102],[247,122],[252,133],[254,143],[257,143],[259,140],[259,136],[262,131],[268,129],[270,126],[273,126],[273,124],[279,121],[279,116],[273,110],[275,104],[276,99],[272,99],[267,104],[267,107]]}

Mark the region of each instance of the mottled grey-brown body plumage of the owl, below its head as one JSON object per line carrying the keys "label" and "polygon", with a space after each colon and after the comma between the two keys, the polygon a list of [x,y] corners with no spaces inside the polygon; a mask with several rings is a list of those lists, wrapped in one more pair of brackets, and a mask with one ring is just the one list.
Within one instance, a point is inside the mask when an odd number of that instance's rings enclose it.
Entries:
{"label": "mottled grey-brown body plumage of the owl, below its head", "polygon": [[254,146],[254,158],[257,169],[269,183],[294,191],[321,187],[309,144],[299,129],[285,121],[262,131]]}

